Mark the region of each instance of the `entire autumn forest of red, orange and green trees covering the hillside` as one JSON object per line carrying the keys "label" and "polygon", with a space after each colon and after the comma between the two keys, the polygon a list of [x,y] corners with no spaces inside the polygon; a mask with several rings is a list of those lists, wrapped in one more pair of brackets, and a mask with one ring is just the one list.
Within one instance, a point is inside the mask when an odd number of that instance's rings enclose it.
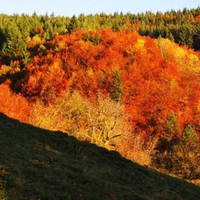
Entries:
{"label": "entire autumn forest of red, orange and green trees covering the hillside", "polygon": [[200,7],[1,14],[0,112],[200,179]]}

